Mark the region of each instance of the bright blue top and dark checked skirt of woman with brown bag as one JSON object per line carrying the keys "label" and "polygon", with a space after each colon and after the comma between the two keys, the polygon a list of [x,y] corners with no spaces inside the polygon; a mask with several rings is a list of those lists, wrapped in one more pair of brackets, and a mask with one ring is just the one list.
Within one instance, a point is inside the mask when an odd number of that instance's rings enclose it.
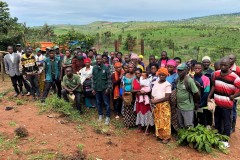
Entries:
{"label": "bright blue top and dark checked skirt of woman with brown bag", "polygon": [[[131,92],[133,89],[133,78],[123,77],[122,82],[124,84],[125,92]],[[123,124],[125,127],[134,127],[136,124],[136,114],[134,112],[135,96],[132,97],[132,103],[130,105],[123,105]]]}

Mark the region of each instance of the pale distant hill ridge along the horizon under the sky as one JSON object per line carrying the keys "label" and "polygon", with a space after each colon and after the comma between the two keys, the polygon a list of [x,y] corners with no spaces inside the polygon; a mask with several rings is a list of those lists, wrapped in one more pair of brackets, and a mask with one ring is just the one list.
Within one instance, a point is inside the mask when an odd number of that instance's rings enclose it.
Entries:
{"label": "pale distant hill ridge along the horizon under the sky", "polygon": [[176,25],[206,25],[209,27],[230,27],[240,28],[240,12],[231,14],[211,15],[204,17],[195,17],[176,21],[129,21],[129,22],[107,22],[97,21],[87,25],[52,25],[57,35],[64,34],[67,31],[74,29],[82,33],[103,33],[111,31],[112,33],[161,28],[164,26]]}

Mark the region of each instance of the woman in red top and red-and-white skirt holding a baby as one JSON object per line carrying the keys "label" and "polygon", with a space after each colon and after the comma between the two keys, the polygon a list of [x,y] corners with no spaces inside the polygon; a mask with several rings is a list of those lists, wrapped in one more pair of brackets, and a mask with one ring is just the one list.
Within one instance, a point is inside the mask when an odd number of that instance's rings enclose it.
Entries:
{"label": "woman in red top and red-and-white skirt holding a baby", "polygon": [[[138,132],[141,133],[143,131],[143,127],[146,127],[148,125],[150,126],[154,125],[150,104],[149,103],[146,104],[144,101],[143,102],[140,101],[140,96],[149,94],[151,90],[149,90],[149,92],[144,92],[143,90],[139,91],[141,89],[140,77],[142,74],[142,70],[138,68],[135,71],[135,74],[136,74],[136,79],[134,79],[133,81],[133,89],[135,91],[138,91],[136,95],[136,104],[135,104],[136,105],[135,111],[137,113],[136,125],[138,125]],[[149,133],[150,132],[148,129],[147,135],[149,135]]]}

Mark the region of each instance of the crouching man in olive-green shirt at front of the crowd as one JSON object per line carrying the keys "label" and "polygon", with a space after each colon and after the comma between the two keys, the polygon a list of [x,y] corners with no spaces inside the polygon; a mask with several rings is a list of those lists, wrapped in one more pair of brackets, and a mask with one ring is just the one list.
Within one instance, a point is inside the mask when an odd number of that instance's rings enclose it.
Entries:
{"label": "crouching man in olive-green shirt at front of the crowd", "polygon": [[82,114],[82,107],[81,107],[81,81],[78,75],[73,74],[72,67],[67,67],[65,69],[66,75],[63,77],[62,82],[62,96],[65,101],[69,102],[67,94],[74,94],[75,95],[75,104],[76,108]]}

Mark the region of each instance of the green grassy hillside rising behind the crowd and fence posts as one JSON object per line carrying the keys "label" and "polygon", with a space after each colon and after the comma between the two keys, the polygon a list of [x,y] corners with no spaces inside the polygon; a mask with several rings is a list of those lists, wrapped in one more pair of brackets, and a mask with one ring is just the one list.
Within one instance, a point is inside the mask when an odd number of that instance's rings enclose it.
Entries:
{"label": "green grassy hillside rising behind the crowd and fence posts", "polygon": [[[194,26],[194,27],[193,27]],[[86,34],[99,33],[100,36],[111,31],[112,37],[109,44],[100,42],[100,51],[113,50],[113,41],[117,39],[119,34],[122,34],[123,41],[127,34],[137,37],[139,40],[145,40],[145,52],[149,54],[157,54],[161,49],[172,52],[171,49],[163,46],[159,50],[151,50],[148,46],[151,40],[172,39],[175,43],[175,56],[186,55],[187,58],[195,58],[196,51],[193,47],[200,46],[200,57],[210,55],[214,59],[219,59],[223,56],[219,48],[232,48],[228,52],[240,51],[240,13],[214,15],[199,18],[191,18],[180,21],[164,21],[164,22],[94,22],[88,25],[55,25],[54,31],[57,35],[64,34],[68,30],[74,28],[76,31]],[[233,29],[234,28],[234,29]],[[145,36],[143,36],[145,34]],[[204,35],[204,36],[201,36]],[[187,45],[187,49],[183,46]],[[123,50],[121,45],[121,51]],[[140,46],[135,47],[135,52],[140,52]]]}

